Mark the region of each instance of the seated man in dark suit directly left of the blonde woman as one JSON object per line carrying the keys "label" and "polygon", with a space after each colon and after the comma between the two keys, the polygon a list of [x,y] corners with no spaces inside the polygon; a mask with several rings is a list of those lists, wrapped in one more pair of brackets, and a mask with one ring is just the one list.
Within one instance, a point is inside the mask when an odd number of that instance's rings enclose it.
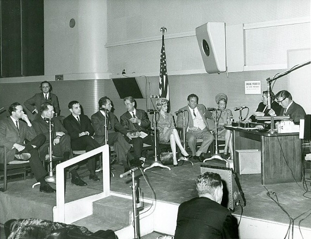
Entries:
{"label": "seated man in dark suit directly left of the blonde woman", "polygon": [[[131,140],[128,139],[128,142],[133,144],[134,157],[140,158],[143,143],[151,145],[153,150],[155,150],[153,137],[147,133],[147,129],[150,127],[150,121],[148,119],[147,113],[144,110],[135,108],[135,100],[132,96],[124,98],[124,105],[127,112],[121,116],[120,122],[125,129],[129,130],[129,133],[127,134],[136,136]],[[142,138],[140,137],[142,134],[140,132],[146,133],[147,135]],[[160,147],[158,144],[157,149],[157,152],[159,152]]]}

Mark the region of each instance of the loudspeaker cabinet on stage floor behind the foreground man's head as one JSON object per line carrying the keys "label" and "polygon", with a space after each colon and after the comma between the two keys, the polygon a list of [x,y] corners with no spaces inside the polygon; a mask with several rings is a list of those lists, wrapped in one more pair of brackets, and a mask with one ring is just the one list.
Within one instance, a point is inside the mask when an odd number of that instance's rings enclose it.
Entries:
{"label": "loudspeaker cabinet on stage floor behind the foreground man's head", "polygon": [[218,173],[220,175],[223,185],[222,206],[231,211],[240,206],[245,206],[246,201],[237,174],[231,168],[201,164],[201,173],[205,172]]}

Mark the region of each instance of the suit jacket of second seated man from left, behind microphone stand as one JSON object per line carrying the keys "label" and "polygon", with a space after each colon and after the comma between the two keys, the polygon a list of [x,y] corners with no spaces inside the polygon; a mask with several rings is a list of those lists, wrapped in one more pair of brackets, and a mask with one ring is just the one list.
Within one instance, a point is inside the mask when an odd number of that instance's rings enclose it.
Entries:
{"label": "suit jacket of second seated man from left, behind microphone stand", "polygon": [[[52,118],[53,125],[52,126],[52,135],[53,138],[56,137],[56,132],[63,132],[67,134],[67,130],[62,126],[62,122],[58,119],[58,117]],[[36,134],[44,134],[47,139],[46,142],[40,147],[40,152],[47,152],[49,147],[49,123],[42,119],[41,115],[37,114],[35,120],[32,121],[32,126],[36,132]],[[44,158],[45,155],[40,154],[40,158]]]}

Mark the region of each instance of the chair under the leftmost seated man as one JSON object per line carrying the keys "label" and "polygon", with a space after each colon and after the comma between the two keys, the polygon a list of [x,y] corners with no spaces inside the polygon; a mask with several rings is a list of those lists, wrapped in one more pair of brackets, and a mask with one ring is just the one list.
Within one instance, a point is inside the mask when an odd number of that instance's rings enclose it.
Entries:
{"label": "chair under the leftmost seated man", "polygon": [[0,177],[3,177],[3,188],[0,187],[0,191],[4,192],[7,190],[7,176],[22,174],[24,180],[26,180],[27,171],[31,170],[29,160],[28,161],[18,161],[13,160],[7,163],[6,148],[0,146],[0,150],[3,150],[3,164],[0,163]]}

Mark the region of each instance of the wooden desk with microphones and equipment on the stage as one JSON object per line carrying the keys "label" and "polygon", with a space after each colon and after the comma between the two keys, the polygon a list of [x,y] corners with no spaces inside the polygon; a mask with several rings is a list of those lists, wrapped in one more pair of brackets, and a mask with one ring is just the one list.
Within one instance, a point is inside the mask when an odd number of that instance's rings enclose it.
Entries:
{"label": "wooden desk with microphones and equipment on the stage", "polygon": [[[226,126],[226,128],[233,132],[234,159],[238,158],[238,152],[235,151],[237,149],[261,150],[263,185],[301,181],[299,133],[270,134],[231,126]],[[237,164],[237,160],[234,160],[234,169],[238,168]]]}

